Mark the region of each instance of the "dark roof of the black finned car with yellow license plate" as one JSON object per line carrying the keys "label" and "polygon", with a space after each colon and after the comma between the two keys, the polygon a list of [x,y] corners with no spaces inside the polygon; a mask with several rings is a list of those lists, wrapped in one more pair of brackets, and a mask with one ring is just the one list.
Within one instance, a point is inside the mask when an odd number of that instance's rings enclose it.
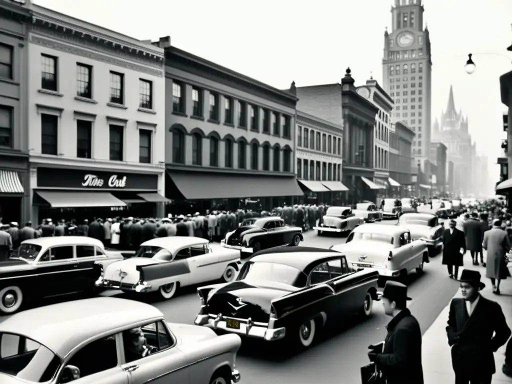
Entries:
{"label": "dark roof of the black finned car with yellow license plate", "polygon": [[249,260],[254,263],[284,264],[309,273],[319,261],[336,259],[342,255],[343,253],[325,248],[273,247],[254,253]]}

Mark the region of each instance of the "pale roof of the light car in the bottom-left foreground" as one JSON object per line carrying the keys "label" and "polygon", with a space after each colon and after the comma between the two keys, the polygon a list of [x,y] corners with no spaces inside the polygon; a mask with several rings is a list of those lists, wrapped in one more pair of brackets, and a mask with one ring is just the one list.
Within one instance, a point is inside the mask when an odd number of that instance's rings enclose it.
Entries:
{"label": "pale roof of the light car in the bottom-left foreground", "polygon": [[162,312],[149,304],[94,297],[16,313],[0,323],[0,332],[27,336],[63,359],[91,338],[162,318]]}

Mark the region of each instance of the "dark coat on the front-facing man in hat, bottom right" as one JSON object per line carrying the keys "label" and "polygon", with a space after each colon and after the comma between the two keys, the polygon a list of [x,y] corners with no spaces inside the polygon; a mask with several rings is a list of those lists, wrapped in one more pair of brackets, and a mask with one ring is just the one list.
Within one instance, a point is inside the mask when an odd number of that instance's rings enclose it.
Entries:
{"label": "dark coat on the front-facing man in hat, bottom right", "polygon": [[471,316],[463,298],[454,298],[446,327],[455,374],[468,377],[496,372],[494,352],[510,337],[510,328],[498,303],[480,296]]}

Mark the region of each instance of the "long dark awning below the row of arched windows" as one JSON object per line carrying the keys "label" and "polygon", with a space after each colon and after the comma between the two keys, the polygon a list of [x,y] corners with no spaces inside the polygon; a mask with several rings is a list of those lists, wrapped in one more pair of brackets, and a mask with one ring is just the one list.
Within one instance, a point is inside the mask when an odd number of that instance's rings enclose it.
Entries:
{"label": "long dark awning below the row of arched windows", "polygon": [[[172,199],[209,200],[246,197],[303,196],[294,177],[167,171]],[[174,185],[172,185],[174,184]],[[176,195],[176,196],[170,196]],[[179,196],[181,195],[181,196]]]}

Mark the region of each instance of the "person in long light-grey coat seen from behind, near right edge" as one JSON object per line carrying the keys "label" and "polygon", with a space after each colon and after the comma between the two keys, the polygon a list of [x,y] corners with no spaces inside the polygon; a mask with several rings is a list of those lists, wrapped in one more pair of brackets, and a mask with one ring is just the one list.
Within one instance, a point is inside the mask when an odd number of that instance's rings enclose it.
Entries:
{"label": "person in long light-grey coat seen from behind, near right edge", "polygon": [[485,277],[493,284],[493,293],[500,294],[500,282],[509,271],[505,254],[510,249],[507,232],[501,229],[501,220],[495,219],[493,227],[484,233],[483,248],[487,250]]}

